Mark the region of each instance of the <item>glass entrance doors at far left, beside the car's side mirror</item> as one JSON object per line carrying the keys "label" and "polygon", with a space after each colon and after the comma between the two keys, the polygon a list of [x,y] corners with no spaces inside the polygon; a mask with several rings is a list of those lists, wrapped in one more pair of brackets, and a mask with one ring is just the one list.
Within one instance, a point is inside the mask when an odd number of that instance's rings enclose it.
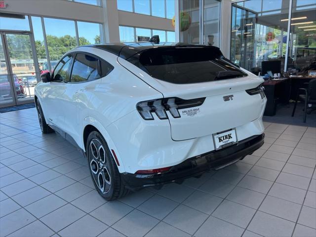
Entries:
{"label": "glass entrance doors at far left, beside the car's side mirror", "polygon": [[34,99],[39,66],[34,61],[32,39],[31,33],[1,32],[0,107]]}

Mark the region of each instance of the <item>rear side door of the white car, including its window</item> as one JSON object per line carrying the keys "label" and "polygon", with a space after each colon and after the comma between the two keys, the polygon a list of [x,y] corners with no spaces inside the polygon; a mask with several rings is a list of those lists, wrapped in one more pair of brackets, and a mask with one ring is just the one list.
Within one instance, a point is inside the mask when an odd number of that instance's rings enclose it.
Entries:
{"label": "rear side door of the white car, including its window", "polygon": [[92,54],[78,52],[74,57],[70,80],[65,92],[65,132],[79,142],[83,119],[89,110],[89,98],[100,83],[100,59]]}

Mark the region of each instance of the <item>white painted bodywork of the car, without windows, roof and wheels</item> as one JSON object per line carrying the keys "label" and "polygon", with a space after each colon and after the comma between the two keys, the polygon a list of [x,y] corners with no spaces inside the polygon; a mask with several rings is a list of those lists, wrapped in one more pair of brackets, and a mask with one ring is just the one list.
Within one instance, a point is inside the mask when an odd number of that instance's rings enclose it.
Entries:
{"label": "white painted bodywork of the car, without windows, roof and wheels", "polygon": [[[114,70],[102,79],[82,83],[40,82],[35,88],[46,122],[69,134],[85,151],[83,131],[96,127],[119,161],[120,173],[178,164],[214,150],[212,134],[236,128],[238,140],[264,132],[262,116],[266,98],[249,95],[246,89],[263,82],[249,76],[196,84],[172,84],[158,79],[117,55],[94,47],[87,52],[103,58]],[[223,96],[233,94],[224,102]],[[143,119],[136,110],[141,101],[163,97],[206,97],[195,116],[161,120]],[[186,109],[184,109],[186,110]]]}

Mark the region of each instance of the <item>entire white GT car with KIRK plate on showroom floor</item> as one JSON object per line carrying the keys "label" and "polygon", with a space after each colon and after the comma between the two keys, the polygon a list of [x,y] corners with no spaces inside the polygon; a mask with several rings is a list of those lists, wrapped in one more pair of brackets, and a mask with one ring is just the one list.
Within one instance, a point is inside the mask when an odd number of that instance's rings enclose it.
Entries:
{"label": "entire white GT car with KIRK plate on showroom floor", "polygon": [[214,46],[118,43],[77,47],[35,88],[43,133],[88,160],[102,197],[198,177],[264,143],[263,79]]}

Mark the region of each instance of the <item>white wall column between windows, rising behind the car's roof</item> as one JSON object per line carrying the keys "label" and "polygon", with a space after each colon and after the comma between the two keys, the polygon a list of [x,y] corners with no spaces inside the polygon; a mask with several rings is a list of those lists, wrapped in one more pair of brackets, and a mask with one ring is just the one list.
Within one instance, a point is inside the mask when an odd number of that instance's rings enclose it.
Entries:
{"label": "white wall column between windows, rising behind the car's roof", "polygon": [[118,2],[117,0],[102,0],[103,29],[106,43],[119,42]]}

